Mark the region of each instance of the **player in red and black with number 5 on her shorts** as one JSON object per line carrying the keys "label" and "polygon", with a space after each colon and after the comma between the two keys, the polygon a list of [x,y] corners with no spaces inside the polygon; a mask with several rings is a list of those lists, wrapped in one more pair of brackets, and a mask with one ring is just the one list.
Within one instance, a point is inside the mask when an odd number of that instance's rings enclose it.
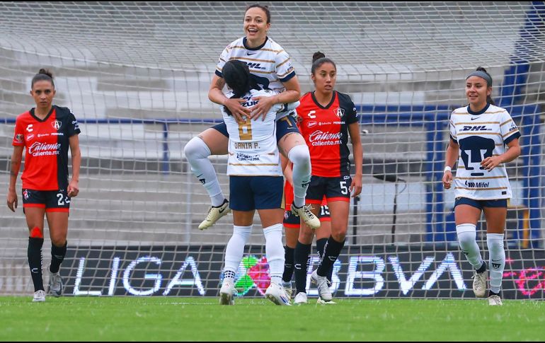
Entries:
{"label": "player in red and black with number 5 on her shorts", "polygon": [[[314,211],[318,213],[325,195],[331,214],[331,236],[320,265],[311,276],[311,281],[318,285],[321,300],[328,302],[331,301],[331,291],[326,275],[345,244],[350,194],[355,197],[362,191],[363,148],[354,103],[350,96],[334,90],[337,74],[335,62],[316,52],[311,73],[316,91],[306,93],[299,100],[301,104],[297,107],[297,114],[301,134],[309,146],[312,165],[306,203],[315,204]],[[356,172],[353,179],[350,177],[349,134]],[[311,251],[312,235],[309,230],[303,226],[299,232],[295,264],[304,263]]]}

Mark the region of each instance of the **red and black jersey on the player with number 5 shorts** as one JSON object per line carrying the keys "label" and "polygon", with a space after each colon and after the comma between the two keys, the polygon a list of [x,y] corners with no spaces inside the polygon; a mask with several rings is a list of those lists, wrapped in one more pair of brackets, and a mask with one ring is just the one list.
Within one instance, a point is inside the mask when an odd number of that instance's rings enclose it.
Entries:
{"label": "red and black jersey on the player with number 5 shorts", "polygon": [[358,121],[350,96],[333,91],[325,107],[306,93],[297,107],[301,134],[309,146],[312,175],[333,178],[350,175],[348,125]]}

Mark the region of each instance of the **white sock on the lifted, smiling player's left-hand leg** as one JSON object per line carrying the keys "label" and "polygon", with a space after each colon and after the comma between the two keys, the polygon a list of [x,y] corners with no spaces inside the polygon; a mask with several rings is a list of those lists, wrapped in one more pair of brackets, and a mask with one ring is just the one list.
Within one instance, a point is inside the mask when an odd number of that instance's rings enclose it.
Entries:
{"label": "white sock on the lifted, smiling player's left-hand leg", "polygon": [[212,206],[218,207],[223,204],[225,197],[222,188],[219,187],[216,170],[208,159],[210,148],[205,141],[199,137],[193,137],[188,144],[185,144],[183,153],[191,165],[191,172],[205,186]]}

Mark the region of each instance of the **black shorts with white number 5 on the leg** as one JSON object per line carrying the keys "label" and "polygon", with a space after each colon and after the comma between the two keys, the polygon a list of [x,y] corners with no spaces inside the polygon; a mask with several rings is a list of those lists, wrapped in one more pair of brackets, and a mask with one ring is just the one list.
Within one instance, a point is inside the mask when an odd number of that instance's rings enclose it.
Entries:
{"label": "black shorts with white number 5 on the leg", "polygon": [[352,185],[350,175],[333,178],[312,175],[309,188],[306,190],[306,202],[321,204],[324,196],[328,202],[350,202],[350,185]]}

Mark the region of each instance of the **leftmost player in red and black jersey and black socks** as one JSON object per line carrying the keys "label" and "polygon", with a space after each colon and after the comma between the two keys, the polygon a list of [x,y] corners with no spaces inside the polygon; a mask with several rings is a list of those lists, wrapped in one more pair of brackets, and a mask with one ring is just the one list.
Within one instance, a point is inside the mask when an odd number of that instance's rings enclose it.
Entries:
{"label": "leftmost player in red and black jersey and black socks", "polygon": [[[42,245],[44,216],[50,228],[51,264],[50,293],[62,295],[59,268],[67,252],[68,214],[70,198],[79,193],[78,122],[68,108],[52,105],[55,95],[50,71],[40,69],[30,84],[30,95],[36,107],[19,115],[13,135],[13,155],[9,178],[8,207],[17,208],[16,182],[23,149],[23,212],[30,237],[28,238],[28,264],[34,284],[33,301],[45,301],[42,281]],[[68,149],[72,157],[72,178],[68,175]]]}

